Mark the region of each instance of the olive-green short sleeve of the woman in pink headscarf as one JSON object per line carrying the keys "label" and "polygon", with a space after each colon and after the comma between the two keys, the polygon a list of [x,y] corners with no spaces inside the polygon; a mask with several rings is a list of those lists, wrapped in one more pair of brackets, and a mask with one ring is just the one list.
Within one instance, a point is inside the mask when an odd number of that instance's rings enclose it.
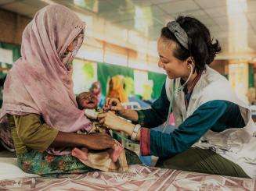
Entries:
{"label": "olive-green short sleeve of the woman in pink headscarf", "polygon": [[14,115],[17,135],[20,140],[34,150],[44,151],[56,139],[58,130],[41,122],[40,115]]}

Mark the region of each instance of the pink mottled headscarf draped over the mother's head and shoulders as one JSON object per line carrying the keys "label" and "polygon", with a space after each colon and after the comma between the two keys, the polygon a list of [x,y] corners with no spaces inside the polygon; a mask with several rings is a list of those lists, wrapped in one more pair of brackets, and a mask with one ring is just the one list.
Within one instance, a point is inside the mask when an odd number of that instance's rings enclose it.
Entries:
{"label": "pink mottled headscarf draped over the mother's head and shoulders", "polygon": [[[72,67],[67,67],[81,47],[84,29],[85,23],[63,5],[48,5],[35,14],[23,31],[21,58],[5,80],[0,118],[34,113],[63,132],[91,128],[78,109]],[[74,39],[74,51],[66,59],[64,53]]]}

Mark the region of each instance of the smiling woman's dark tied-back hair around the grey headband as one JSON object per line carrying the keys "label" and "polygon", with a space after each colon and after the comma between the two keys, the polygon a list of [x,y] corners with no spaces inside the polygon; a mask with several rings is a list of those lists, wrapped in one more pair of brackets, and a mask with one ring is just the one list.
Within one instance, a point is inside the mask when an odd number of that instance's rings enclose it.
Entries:
{"label": "smiling woman's dark tied-back hair around the grey headband", "polygon": [[213,62],[215,55],[221,51],[218,40],[213,43],[213,39],[207,27],[192,16],[178,16],[175,21],[179,23],[189,37],[189,50],[186,50],[186,48],[178,42],[177,38],[171,33],[168,27],[162,28],[161,37],[176,42],[177,47],[174,51],[175,58],[184,61],[189,58],[189,56],[192,56],[197,73],[202,72],[205,69],[205,65],[209,65]]}

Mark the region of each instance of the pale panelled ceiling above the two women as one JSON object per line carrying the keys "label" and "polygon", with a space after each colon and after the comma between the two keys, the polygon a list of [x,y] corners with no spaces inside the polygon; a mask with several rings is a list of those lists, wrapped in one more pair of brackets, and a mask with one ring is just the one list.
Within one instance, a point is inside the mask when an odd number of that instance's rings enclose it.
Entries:
{"label": "pale panelled ceiling above the two women", "polygon": [[[25,16],[48,0],[0,0],[0,9]],[[128,30],[156,40],[160,29],[178,15],[195,16],[222,45],[227,56],[256,56],[256,0],[53,0],[95,14]]]}

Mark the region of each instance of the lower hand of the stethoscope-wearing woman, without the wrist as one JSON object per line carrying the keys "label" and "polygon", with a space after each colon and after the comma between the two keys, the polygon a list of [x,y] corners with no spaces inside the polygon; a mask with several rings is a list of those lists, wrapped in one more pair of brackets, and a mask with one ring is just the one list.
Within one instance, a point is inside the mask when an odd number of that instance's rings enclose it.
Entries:
{"label": "lower hand of the stethoscope-wearing woman, without the wrist", "polygon": [[126,121],[124,119],[119,118],[112,111],[108,111],[103,114],[98,115],[99,123],[107,128],[114,129],[117,131],[124,130],[123,127],[126,125]]}

